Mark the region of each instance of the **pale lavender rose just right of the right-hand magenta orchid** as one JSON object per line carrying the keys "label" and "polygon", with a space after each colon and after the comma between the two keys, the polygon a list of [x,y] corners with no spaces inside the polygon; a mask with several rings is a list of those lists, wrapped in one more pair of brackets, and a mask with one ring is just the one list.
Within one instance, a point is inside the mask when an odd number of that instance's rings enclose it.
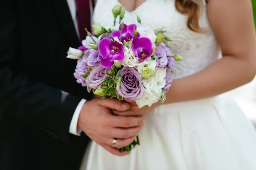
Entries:
{"label": "pale lavender rose just right of the right-hand magenta orchid", "polygon": [[154,58],[156,59],[157,61],[157,66],[159,68],[164,68],[166,67],[167,63],[168,63],[168,59],[167,59],[167,56],[166,56],[166,50],[164,49],[164,45],[159,45],[157,44],[156,45],[157,48],[156,48],[156,51],[154,53]]}

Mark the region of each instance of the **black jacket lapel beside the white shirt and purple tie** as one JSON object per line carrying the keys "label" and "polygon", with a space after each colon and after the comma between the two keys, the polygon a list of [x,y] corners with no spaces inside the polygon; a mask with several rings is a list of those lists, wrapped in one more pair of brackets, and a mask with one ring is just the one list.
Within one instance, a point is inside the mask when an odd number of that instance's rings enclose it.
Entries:
{"label": "black jacket lapel beside the white shirt and purple tie", "polygon": [[78,48],[81,43],[76,34],[67,0],[49,0],[49,3],[53,6],[53,10],[55,10],[56,15],[58,16],[60,27],[63,29],[64,36],[67,37],[70,46]]}

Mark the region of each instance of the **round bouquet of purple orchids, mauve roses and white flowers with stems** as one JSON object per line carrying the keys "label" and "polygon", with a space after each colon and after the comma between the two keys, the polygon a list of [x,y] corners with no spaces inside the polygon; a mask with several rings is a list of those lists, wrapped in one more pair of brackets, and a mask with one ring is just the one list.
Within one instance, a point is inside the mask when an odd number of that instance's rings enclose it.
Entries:
{"label": "round bouquet of purple orchids, mauve roses and white flowers with stems", "polygon": [[[77,59],[74,76],[77,83],[87,86],[88,92],[103,98],[135,101],[139,108],[151,106],[161,100],[172,84],[172,68],[180,55],[173,55],[164,41],[172,38],[164,35],[163,28],[152,30],[138,23],[122,22],[125,9],[114,6],[114,26],[119,16],[119,29],[93,25],[87,31],[78,49],[71,48],[67,58]],[[122,23],[121,23],[122,22]],[[122,150],[131,150],[140,144],[139,138]]]}

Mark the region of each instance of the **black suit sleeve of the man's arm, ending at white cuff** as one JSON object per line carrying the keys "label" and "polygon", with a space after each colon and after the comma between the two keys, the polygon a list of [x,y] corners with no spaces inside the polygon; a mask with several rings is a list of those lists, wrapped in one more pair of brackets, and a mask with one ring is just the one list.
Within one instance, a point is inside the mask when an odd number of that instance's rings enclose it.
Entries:
{"label": "black suit sleeve of the man's arm, ending at white cuff", "polygon": [[[0,110],[4,116],[68,142],[69,126],[81,98],[59,89],[29,81],[28,75],[15,69],[18,58],[17,20],[13,0],[0,6]],[[17,62],[16,62],[17,63]]]}

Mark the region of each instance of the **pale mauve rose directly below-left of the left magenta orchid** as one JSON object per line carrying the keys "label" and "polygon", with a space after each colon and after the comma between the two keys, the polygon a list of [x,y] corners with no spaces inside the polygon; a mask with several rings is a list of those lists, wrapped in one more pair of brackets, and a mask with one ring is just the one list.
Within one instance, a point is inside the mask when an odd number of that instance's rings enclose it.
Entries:
{"label": "pale mauve rose directly below-left of the left magenta orchid", "polygon": [[90,75],[87,77],[87,84],[93,89],[98,89],[102,86],[102,81],[105,80],[106,73],[102,66],[98,65],[92,69]]}

